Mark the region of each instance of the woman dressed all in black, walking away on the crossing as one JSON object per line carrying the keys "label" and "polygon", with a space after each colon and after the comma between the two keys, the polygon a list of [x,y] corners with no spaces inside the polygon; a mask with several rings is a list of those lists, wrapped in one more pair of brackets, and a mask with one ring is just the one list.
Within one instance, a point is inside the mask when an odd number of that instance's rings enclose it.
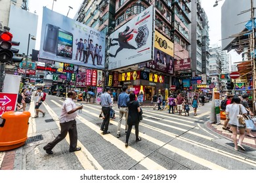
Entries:
{"label": "woman dressed all in black, walking away on the crossing", "polygon": [[125,140],[125,146],[128,146],[129,137],[131,134],[131,129],[133,125],[135,125],[135,136],[136,136],[136,142],[141,141],[141,138],[139,137],[139,112],[140,112],[140,105],[138,101],[135,101],[135,93],[131,93],[129,95],[129,102],[127,104],[128,106],[128,130],[126,134],[126,140]]}

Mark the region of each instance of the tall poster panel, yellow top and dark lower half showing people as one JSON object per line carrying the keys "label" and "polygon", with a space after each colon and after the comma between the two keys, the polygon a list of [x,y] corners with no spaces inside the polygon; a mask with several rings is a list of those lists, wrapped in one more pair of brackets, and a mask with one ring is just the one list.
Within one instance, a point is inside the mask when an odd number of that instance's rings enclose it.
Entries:
{"label": "tall poster panel, yellow top and dark lower half showing people", "polygon": [[154,58],[146,63],[146,67],[155,71],[173,74],[173,42],[155,31]]}

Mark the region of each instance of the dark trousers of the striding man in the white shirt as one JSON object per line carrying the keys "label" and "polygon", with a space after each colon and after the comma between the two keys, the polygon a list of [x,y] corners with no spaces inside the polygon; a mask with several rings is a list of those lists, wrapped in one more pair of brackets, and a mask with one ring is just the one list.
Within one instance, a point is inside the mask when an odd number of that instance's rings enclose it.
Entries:
{"label": "dark trousers of the striding man in the white shirt", "polygon": [[65,137],[70,135],[70,151],[74,151],[77,147],[77,128],[76,121],[72,120],[69,122],[60,123],[60,134],[54,139],[53,142],[49,142],[45,146],[45,150],[52,150],[58,142],[65,139]]}

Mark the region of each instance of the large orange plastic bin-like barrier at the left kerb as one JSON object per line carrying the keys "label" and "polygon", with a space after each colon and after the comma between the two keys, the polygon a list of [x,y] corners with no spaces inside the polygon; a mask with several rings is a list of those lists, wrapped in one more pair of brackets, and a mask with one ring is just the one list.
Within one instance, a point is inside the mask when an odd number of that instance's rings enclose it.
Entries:
{"label": "large orange plastic bin-like barrier at the left kerb", "polygon": [[23,146],[28,139],[28,119],[31,114],[25,112],[5,112],[0,124],[0,151],[12,150]]}

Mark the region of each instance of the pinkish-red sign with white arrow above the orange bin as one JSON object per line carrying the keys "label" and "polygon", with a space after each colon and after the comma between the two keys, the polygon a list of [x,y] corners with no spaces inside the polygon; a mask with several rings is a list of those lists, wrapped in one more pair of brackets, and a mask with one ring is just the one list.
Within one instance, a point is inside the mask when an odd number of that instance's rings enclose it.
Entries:
{"label": "pinkish-red sign with white arrow above the orange bin", "polygon": [[14,93],[0,93],[0,115],[3,112],[15,110],[17,95]]}

